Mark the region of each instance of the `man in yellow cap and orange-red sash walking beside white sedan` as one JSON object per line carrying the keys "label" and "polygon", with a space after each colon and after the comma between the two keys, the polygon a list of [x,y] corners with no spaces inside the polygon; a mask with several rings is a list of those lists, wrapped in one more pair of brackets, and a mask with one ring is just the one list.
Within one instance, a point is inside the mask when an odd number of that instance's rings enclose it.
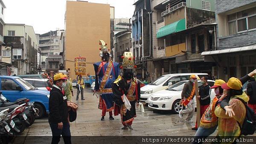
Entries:
{"label": "man in yellow cap and orange-red sash walking beside white sedan", "polygon": [[190,79],[183,87],[182,93],[181,93],[181,100],[180,104],[182,104],[184,107],[187,107],[187,109],[182,109],[179,112],[180,118],[183,118],[183,115],[188,114],[188,117],[185,119],[185,122],[193,122],[191,118],[193,117],[193,114],[195,112],[195,102],[194,102],[194,96],[195,96],[195,85],[194,82],[196,80],[195,75],[190,75]]}

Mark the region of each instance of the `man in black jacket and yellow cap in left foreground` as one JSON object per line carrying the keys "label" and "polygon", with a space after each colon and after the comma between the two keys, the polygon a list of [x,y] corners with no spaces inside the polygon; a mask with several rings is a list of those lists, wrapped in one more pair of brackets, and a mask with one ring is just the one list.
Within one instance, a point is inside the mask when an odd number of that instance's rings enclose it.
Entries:
{"label": "man in black jacket and yellow cap in left foreground", "polygon": [[62,74],[54,75],[53,88],[49,97],[49,124],[52,130],[52,144],[58,144],[61,135],[65,144],[71,144],[70,124],[68,121],[67,96],[62,84],[66,81]]}

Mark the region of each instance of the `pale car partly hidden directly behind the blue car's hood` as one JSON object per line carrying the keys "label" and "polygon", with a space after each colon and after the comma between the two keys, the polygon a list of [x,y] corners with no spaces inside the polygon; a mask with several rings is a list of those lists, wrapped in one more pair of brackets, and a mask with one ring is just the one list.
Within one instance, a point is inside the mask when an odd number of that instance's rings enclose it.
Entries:
{"label": "pale car partly hidden directly behind the blue car's hood", "polygon": [[50,84],[49,79],[44,79],[44,78],[23,78],[23,80],[26,80],[34,86],[37,89],[41,90],[48,90],[50,91],[52,89],[52,85]]}

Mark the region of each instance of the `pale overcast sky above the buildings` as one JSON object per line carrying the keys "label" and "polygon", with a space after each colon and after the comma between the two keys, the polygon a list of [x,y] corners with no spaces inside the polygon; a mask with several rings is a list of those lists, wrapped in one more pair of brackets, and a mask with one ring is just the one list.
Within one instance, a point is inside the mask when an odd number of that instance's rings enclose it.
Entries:
{"label": "pale overcast sky above the buildings", "polygon": [[[76,1],[76,0],[73,0]],[[115,7],[115,18],[131,18],[134,0],[84,0],[108,3]],[[66,0],[3,0],[6,5],[5,23],[24,23],[44,34],[56,28],[64,29]]]}

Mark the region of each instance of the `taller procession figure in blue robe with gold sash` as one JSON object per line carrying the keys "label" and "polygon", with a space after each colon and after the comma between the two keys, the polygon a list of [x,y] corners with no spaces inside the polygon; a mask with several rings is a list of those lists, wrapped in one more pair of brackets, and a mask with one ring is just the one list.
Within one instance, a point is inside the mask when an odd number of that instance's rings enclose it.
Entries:
{"label": "taller procession figure in blue robe with gold sash", "polygon": [[[99,109],[102,109],[102,118],[106,112],[109,112],[109,119],[113,120],[113,93],[112,93],[112,83],[116,80],[119,75],[119,63],[113,62],[111,60],[111,54],[108,52],[107,43],[103,40],[99,40],[99,45],[101,46],[99,56],[102,58],[100,62],[94,63],[95,70],[95,87],[94,92],[99,92]],[[96,93],[97,95],[97,93]]]}

